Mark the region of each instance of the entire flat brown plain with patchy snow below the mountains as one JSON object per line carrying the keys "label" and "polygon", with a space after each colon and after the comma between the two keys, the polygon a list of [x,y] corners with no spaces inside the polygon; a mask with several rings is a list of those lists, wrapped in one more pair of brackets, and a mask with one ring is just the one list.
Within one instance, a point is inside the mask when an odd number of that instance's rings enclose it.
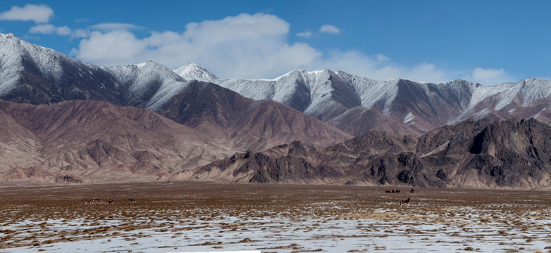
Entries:
{"label": "entire flat brown plain with patchy snow below the mountains", "polygon": [[2,186],[0,214],[1,252],[551,252],[551,193],[536,190]]}

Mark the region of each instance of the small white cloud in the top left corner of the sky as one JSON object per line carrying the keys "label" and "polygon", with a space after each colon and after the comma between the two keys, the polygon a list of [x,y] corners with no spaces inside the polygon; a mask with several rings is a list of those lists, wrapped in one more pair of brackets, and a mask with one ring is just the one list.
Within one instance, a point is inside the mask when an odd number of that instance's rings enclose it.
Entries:
{"label": "small white cloud in the top left corner of the sky", "polygon": [[0,20],[48,22],[53,17],[53,10],[44,4],[25,4],[23,7],[11,6],[9,11],[0,13]]}

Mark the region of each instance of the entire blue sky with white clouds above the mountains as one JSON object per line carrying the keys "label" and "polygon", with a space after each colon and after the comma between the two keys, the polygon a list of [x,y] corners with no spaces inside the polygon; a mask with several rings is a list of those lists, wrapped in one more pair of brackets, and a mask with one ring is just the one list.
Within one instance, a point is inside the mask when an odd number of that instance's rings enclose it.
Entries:
{"label": "entire blue sky with white clouds above the mountains", "polygon": [[1,1],[0,32],[85,63],[197,63],[219,78],[295,69],[376,80],[550,79],[551,1]]}

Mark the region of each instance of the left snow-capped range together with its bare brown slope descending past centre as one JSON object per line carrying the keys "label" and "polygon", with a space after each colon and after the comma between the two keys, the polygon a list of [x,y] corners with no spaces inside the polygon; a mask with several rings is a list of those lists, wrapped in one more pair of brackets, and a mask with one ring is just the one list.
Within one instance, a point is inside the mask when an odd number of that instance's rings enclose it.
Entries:
{"label": "left snow-capped range together with its bare brown slope descending past centre", "polygon": [[[13,34],[0,34],[2,100],[35,105],[103,100],[146,108],[236,150],[269,148],[295,138],[312,145],[329,145],[351,137],[281,103],[255,101],[216,84],[199,82],[196,78],[216,77],[198,65],[184,66],[180,74],[186,74],[186,78],[152,61],[98,67],[30,44]],[[272,115],[262,121],[255,118],[267,112]],[[251,123],[253,120],[264,124],[256,126]],[[293,124],[303,129],[293,129]]]}

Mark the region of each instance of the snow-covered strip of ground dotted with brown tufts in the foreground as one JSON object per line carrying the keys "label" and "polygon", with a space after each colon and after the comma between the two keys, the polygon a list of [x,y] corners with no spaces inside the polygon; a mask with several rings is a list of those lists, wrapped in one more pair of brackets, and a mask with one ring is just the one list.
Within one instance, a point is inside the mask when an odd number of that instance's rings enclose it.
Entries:
{"label": "snow-covered strip of ground dotted with brown tufts in the foreground", "polygon": [[[475,210],[473,210],[475,211]],[[384,211],[381,214],[393,211]],[[407,215],[407,214],[405,214]],[[471,216],[475,215],[475,212]],[[476,214],[479,216],[481,214]],[[133,231],[106,231],[98,238],[53,242],[7,249],[8,252],[542,252],[551,245],[549,220],[522,219],[533,223],[524,229],[502,221],[482,225],[479,220],[446,219],[434,222],[412,214],[410,219],[364,219],[350,217],[283,218],[217,217],[217,219],[175,219],[155,221],[155,228]],[[478,218],[477,218],[478,219]],[[91,226],[79,221],[61,225],[46,221],[55,231],[75,231]],[[122,221],[101,221],[102,224]],[[32,228],[25,221],[18,226]],[[38,225],[34,223],[34,225]],[[64,227],[65,226],[65,227]],[[101,225],[100,225],[101,226]],[[38,227],[36,229],[39,229]],[[30,229],[29,232],[32,232]],[[2,235],[5,236],[5,235]],[[56,235],[52,235],[55,237]],[[75,238],[76,239],[76,238]],[[547,248],[546,248],[547,247]]]}

